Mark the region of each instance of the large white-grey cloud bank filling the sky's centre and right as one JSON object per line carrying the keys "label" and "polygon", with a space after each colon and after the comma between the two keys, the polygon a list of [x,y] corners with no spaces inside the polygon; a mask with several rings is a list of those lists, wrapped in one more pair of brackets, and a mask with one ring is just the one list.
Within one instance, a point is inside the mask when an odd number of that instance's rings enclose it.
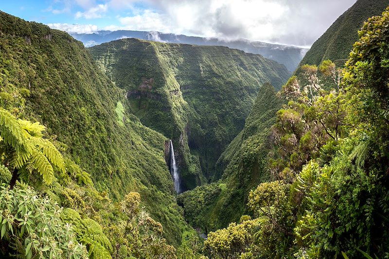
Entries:
{"label": "large white-grey cloud bank filling the sky's centre and right", "polygon": [[156,10],[168,17],[169,32],[300,46],[311,45],[354,2],[149,0]]}

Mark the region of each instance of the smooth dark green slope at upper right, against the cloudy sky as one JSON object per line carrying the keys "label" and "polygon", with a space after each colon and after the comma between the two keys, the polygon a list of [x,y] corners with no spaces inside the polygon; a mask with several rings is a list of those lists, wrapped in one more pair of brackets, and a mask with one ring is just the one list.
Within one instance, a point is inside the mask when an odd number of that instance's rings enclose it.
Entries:
{"label": "smooth dark green slope at upper right, against the cloudy sky", "polygon": [[330,59],[343,65],[358,40],[357,31],[367,18],[381,15],[389,5],[389,0],[357,0],[352,7],[344,12],[330,28],[312,45],[300,62],[319,65],[323,60]]}

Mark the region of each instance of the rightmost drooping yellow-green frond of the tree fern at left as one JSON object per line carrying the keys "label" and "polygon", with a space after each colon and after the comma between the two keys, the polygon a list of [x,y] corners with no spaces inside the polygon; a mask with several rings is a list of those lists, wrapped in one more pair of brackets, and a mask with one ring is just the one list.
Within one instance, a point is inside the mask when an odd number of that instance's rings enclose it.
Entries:
{"label": "rightmost drooping yellow-green frond of the tree fern at left", "polygon": [[65,162],[61,153],[56,149],[50,140],[45,138],[31,137],[30,143],[35,146],[39,151],[42,151],[43,155],[49,159],[55,167],[57,167],[61,173],[65,173]]}

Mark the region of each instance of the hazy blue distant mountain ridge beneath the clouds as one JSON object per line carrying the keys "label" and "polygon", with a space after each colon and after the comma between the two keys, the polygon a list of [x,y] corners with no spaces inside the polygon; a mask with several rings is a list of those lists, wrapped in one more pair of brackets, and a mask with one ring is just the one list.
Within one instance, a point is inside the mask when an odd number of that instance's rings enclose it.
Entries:
{"label": "hazy blue distant mountain ridge beneath the clouds", "polygon": [[98,31],[92,34],[71,34],[71,36],[82,41],[86,47],[92,47],[101,43],[122,38],[139,38],[165,43],[181,43],[190,45],[225,46],[244,52],[261,54],[265,58],[272,59],[285,65],[285,67],[291,72],[297,68],[301,59],[308,51],[308,49],[296,46],[270,44],[260,41],[249,41],[246,39],[226,41],[217,38],[164,34],[154,31]]}

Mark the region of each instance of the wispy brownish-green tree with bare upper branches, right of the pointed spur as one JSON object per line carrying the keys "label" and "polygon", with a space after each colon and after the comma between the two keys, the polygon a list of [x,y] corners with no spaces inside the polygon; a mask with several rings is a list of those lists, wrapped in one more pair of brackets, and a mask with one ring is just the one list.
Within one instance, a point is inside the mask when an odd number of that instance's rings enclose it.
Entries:
{"label": "wispy brownish-green tree with bare upper branches, right of the pointed spur", "polygon": [[[330,60],[324,60],[319,67],[304,65],[301,69],[308,83],[302,87],[298,78],[292,76],[283,86],[282,94],[289,103],[277,112],[272,128],[276,151],[270,154],[270,168],[276,179],[292,181],[293,175],[328,140],[337,142],[351,126],[345,120],[346,92],[341,85],[341,69]],[[332,79],[331,90],[320,84],[318,72]]]}

